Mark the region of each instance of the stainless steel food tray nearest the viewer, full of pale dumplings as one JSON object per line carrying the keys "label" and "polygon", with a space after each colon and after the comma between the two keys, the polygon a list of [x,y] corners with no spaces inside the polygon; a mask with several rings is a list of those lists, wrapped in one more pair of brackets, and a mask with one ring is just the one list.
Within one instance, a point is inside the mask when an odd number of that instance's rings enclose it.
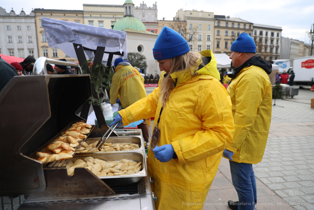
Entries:
{"label": "stainless steel food tray nearest the viewer, full of pale dumplings", "polygon": [[[104,161],[120,161],[121,159],[128,159],[131,161],[142,162],[141,172],[132,175],[120,175],[120,176],[103,176],[98,177],[104,182],[116,182],[116,184],[132,184],[138,182],[142,177],[147,176],[147,162],[143,151],[123,151],[123,152],[103,152],[103,153],[78,153],[71,161],[78,159],[84,160],[86,157],[98,158]],[[75,170],[74,170],[75,174]]]}

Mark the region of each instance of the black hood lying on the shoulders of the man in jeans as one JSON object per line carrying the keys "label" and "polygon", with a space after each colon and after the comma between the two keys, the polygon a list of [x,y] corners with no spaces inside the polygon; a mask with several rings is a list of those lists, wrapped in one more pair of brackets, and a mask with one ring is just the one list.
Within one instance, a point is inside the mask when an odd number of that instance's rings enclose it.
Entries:
{"label": "black hood lying on the shoulders of the man in jeans", "polygon": [[[268,62],[267,60],[264,60],[259,55],[255,55],[246,62],[244,62],[241,66],[235,68],[235,72],[232,75],[232,79],[236,77],[236,75],[246,66],[255,65],[258,67],[261,67],[266,71],[267,74],[272,73],[272,64]],[[232,80],[231,80],[232,81]]]}

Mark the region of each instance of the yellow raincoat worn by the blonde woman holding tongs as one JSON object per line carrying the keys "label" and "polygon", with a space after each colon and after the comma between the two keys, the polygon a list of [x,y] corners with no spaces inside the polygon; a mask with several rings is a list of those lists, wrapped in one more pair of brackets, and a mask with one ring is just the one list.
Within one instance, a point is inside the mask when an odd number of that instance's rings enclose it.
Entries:
{"label": "yellow raincoat worn by the blonde woman holding tongs", "polygon": [[[231,102],[221,85],[215,57],[211,50],[200,52],[211,61],[192,77],[190,73],[177,78],[176,87],[160,116],[158,146],[172,144],[178,159],[159,162],[148,151],[150,176],[157,195],[156,209],[198,209],[203,207],[210,185],[216,175],[222,151],[232,142],[234,124]],[[171,74],[175,77],[176,72]],[[160,115],[160,88],[127,109],[119,111],[124,125]],[[198,202],[187,206],[182,202]]]}

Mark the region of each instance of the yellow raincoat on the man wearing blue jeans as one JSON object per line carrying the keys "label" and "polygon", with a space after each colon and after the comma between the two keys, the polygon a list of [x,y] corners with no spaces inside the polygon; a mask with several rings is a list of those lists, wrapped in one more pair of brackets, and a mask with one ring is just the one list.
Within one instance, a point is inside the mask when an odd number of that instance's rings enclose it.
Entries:
{"label": "yellow raincoat on the man wearing blue jeans", "polygon": [[272,116],[269,77],[258,66],[246,66],[233,78],[227,91],[236,128],[233,142],[227,149],[234,152],[234,162],[261,162]]}

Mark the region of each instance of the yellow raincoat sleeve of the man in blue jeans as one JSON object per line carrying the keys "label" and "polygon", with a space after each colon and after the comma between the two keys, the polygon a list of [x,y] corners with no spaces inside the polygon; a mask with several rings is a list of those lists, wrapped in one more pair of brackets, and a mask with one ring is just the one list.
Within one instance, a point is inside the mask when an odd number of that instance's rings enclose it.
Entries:
{"label": "yellow raincoat sleeve of the man in blue jeans", "polygon": [[234,123],[236,130],[233,134],[233,142],[227,148],[232,152],[236,152],[241,146],[248,131],[254,124],[257,109],[262,103],[265,94],[264,85],[260,77],[254,75],[247,75],[247,77],[241,78],[235,87],[236,111]]}

